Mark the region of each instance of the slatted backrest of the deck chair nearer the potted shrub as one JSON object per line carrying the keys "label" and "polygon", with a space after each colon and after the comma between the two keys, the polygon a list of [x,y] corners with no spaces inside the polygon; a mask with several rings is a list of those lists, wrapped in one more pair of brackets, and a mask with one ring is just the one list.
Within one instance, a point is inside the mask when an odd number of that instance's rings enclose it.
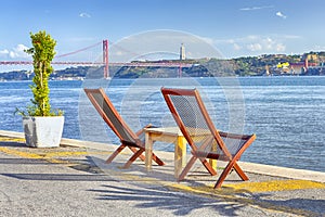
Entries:
{"label": "slatted backrest of the deck chair nearer the potted shrub", "polygon": [[104,122],[110,127],[115,135],[123,143],[139,144],[138,136],[129,128],[127,123],[119,115],[104,89],[84,89],[84,92]]}

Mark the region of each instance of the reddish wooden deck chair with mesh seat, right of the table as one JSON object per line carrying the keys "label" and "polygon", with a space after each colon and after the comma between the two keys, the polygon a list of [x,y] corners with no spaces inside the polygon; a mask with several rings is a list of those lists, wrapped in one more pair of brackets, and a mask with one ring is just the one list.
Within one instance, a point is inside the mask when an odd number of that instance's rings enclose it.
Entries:
{"label": "reddish wooden deck chair with mesh seat, right of the table", "polygon": [[[173,118],[191,146],[193,155],[178,181],[184,179],[197,158],[211,175],[217,175],[217,171],[207,158],[229,162],[214,184],[214,189],[221,187],[232,169],[235,169],[242,180],[248,180],[237,161],[256,139],[256,136],[218,131],[197,89],[168,89],[162,87],[161,92]],[[204,137],[199,137],[200,135],[204,135]]]}

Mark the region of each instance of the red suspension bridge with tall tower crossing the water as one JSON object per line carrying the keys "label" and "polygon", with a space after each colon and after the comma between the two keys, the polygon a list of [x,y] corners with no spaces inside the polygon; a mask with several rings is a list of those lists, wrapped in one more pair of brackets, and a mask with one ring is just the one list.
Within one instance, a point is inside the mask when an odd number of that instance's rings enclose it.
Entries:
{"label": "red suspension bridge with tall tower crossing the water", "polygon": [[[90,62],[90,61],[57,61],[57,59],[74,55],[76,53],[92,49],[100,44],[103,44],[103,61]],[[125,50],[125,49],[123,49]],[[31,65],[32,61],[0,61],[0,65]],[[157,61],[157,62],[129,62],[129,63],[110,63],[108,61],[108,40],[94,43],[92,46],[79,49],[74,52],[56,55],[52,62],[54,65],[92,65],[104,66],[104,78],[109,77],[109,66],[142,66],[142,67],[179,67],[179,76],[181,77],[182,67],[191,67],[193,64],[183,63],[181,61]]]}

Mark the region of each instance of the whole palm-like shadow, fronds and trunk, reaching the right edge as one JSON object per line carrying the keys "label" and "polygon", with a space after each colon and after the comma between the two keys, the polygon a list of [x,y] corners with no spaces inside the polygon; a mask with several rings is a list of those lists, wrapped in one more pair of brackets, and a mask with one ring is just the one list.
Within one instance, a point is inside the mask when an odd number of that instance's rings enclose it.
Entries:
{"label": "whole palm-like shadow, fronds and trunk, reaching the right edge", "polygon": [[[101,189],[90,189],[89,191],[98,194],[96,200],[123,201],[127,204],[135,202],[134,208],[171,210],[176,216],[186,216],[203,209],[211,209],[217,216],[240,216],[246,206],[260,209],[260,214],[263,213],[263,209],[283,216],[322,216],[324,214],[324,200],[263,200],[269,195],[268,193],[252,194],[249,191],[239,192],[231,188],[216,191],[212,196],[204,196],[165,187],[132,184],[131,188],[104,184]],[[134,188],[134,186],[136,187]],[[306,204],[306,206],[301,207],[301,204]],[[265,215],[265,213],[263,214]]]}

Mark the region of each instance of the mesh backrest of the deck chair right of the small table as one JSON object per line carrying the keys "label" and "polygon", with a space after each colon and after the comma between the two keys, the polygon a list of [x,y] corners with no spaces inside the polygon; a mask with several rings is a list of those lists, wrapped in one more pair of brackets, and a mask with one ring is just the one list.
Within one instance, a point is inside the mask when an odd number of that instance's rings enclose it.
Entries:
{"label": "mesh backrest of the deck chair right of the small table", "polygon": [[218,150],[212,151],[231,157],[197,89],[161,88],[161,93],[193,151],[211,152],[213,142],[217,142]]}

